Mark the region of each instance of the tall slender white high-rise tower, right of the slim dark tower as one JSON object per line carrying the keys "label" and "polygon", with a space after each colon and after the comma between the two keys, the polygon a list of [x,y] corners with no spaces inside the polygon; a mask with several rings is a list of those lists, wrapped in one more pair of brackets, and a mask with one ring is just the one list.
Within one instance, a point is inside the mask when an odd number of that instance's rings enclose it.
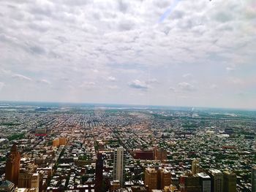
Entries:
{"label": "tall slender white high-rise tower, right of the slim dark tower", "polygon": [[118,147],[114,152],[113,179],[124,183],[124,147]]}

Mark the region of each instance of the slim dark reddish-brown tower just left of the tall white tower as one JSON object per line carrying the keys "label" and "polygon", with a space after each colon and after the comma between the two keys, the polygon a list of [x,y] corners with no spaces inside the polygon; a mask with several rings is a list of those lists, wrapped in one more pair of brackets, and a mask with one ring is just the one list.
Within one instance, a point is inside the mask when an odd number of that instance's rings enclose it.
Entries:
{"label": "slim dark reddish-brown tower just left of the tall white tower", "polygon": [[103,160],[102,153],[97,154],[96,170],[95,170],[95,191],[102,191],[103,182]]}

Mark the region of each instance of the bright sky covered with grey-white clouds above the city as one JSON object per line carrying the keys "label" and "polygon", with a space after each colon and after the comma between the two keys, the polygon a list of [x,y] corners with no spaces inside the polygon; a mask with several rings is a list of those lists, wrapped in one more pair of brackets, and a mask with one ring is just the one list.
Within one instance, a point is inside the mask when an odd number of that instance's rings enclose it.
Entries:
{"label": "bright sky covered with grey-white clouds above the city", "polygon": [[255,0],[1,0],[0,100],[256,109]]}

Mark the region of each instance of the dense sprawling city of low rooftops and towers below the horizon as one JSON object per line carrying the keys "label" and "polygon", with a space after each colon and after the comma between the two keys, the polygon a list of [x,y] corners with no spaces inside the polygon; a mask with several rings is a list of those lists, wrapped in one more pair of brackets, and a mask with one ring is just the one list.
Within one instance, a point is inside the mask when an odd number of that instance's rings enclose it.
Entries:
{"label": "dense sprawling city of low rooftops and towers below the horizon", "polygon": [[255,191],[256,111],[2,102],[0,191]]}

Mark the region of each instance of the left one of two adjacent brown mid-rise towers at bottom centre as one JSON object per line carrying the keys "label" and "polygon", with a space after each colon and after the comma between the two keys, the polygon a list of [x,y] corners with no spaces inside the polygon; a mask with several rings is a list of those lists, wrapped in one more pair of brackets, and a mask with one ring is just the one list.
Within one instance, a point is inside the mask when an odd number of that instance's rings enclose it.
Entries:
{"label": "left one of two adjacent brown mid-rise towers at bottom centre", "polygon": [[152,191],[152,189],[157,189],[157,170],[154,168],[146,168],[145,169],[145,187],[148,188],[148,191]]}

